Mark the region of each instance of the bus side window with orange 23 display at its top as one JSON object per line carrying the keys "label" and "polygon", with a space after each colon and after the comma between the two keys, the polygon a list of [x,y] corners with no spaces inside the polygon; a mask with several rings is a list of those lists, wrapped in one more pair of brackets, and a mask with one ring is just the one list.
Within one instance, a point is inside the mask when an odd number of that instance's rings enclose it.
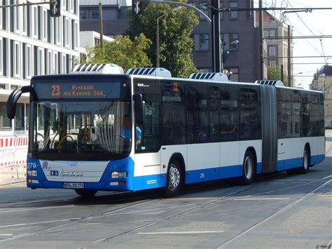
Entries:
{"label": "bus side window with orange 23 display at its top", "polygon": [[162,144],[186,143],[185,101],[181,83],[162,83]]}

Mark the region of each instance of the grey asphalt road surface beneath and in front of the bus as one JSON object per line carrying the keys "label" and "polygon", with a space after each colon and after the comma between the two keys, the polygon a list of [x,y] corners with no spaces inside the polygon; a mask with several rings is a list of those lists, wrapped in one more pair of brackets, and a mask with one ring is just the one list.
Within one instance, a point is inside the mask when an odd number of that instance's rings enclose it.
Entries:
{"label": "grey asphalt road surface beneath and in front of the bus", "polygon": [[332,248],[332,142],[306,175],[207,182],[176,198],[0,187],[0,248]]}

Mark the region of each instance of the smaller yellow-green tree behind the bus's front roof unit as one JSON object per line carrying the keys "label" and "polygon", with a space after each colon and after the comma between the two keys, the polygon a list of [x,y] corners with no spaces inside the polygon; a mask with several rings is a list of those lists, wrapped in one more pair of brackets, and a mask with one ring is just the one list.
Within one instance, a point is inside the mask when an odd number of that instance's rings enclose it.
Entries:
{"label": "smaller yellow-green tree behind the bus's front roof unit", "polygon": [[88,48],[86,60],[89,63],[114,63],[126,71],[131,67],[151,67],[151,61],[144,51],[151,44],[144,34],[134,36],[118,35],[112,42],[104,42],[103,48],[95,46]]}

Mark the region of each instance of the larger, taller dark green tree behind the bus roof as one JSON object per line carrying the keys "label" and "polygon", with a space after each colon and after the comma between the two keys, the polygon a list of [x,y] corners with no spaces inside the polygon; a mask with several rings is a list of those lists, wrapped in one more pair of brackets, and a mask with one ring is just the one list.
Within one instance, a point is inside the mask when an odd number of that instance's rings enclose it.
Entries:
{"label": "larger, taller dark green tree behind the bus roof", "polygon": [[188,77],[193,72],[198,72],[193,63],[193,39],[191,32],[198,25],[198,16],[188,8],[172,11],[174,5],[144,4],[141,15],[131,15],[127,34],[130,37],[144,33],[152,41],[146,51],[148,58],[155,65],[157,18],[160,30],[160,67],[165,67],[173,76]]}

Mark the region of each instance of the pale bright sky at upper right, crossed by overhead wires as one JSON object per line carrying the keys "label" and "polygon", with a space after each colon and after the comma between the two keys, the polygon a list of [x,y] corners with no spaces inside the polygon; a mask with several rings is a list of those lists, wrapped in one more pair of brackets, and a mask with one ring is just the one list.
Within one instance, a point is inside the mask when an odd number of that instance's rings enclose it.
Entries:
{"label": "pale bright sky at upper right, crossed by overhead wires", "polygon": [[[263,6],[276,8],[332,8],[332,0],[263,0]],[[255,0],[258,7],[258,0]],[[282,15],[275,11],[275,17],[280,20]],[[287,13],[286,23],[293,27],[293,36],[321,36],[332,35],[332,9],[318,10],[312,13]],[[293,58],[293,78],[296,86],[308,89],[313,75],[326,62],[332,65],[332,38],[319,39],[293,39],[293,56],[328,56],[324,58]],[[322,45],[322,46],[321,46]],[[324,49],[323,49],[324,48]],[[310,63],[310,64],[298,64]],[[319,64],[314,64],[319,63]]]}

